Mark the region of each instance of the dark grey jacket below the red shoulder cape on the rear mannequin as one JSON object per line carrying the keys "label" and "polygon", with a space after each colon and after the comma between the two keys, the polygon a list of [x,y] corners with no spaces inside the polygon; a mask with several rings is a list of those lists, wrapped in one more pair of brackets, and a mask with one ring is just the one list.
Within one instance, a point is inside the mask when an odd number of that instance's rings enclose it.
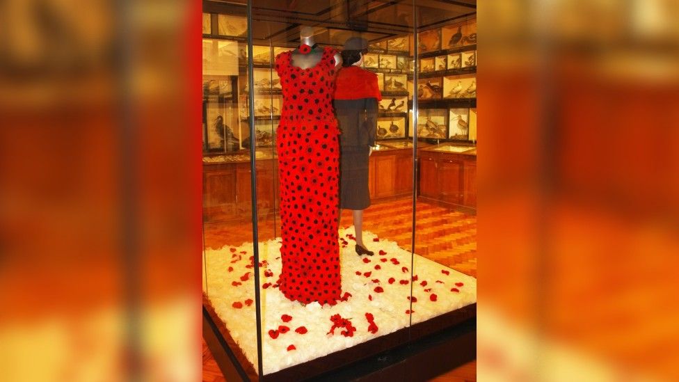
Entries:
{"label": "dark grey jacket below the red shoulder cape on the rear mannequin", "polygon": [[377,134],[377,100],[334,100],[337,123],[340,125],[340,144],[349,146],[374,146]]}

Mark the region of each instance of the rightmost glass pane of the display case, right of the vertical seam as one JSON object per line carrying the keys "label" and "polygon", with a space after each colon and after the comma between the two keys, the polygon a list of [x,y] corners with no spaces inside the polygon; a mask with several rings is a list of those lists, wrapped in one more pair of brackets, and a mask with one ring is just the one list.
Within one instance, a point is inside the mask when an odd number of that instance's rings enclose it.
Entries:
{"label": "rightmost glass pane of the display case, right of the vertical seam", "polygon": [[417,198],[412,323],[476,302],[476,22],[417,7]]}

